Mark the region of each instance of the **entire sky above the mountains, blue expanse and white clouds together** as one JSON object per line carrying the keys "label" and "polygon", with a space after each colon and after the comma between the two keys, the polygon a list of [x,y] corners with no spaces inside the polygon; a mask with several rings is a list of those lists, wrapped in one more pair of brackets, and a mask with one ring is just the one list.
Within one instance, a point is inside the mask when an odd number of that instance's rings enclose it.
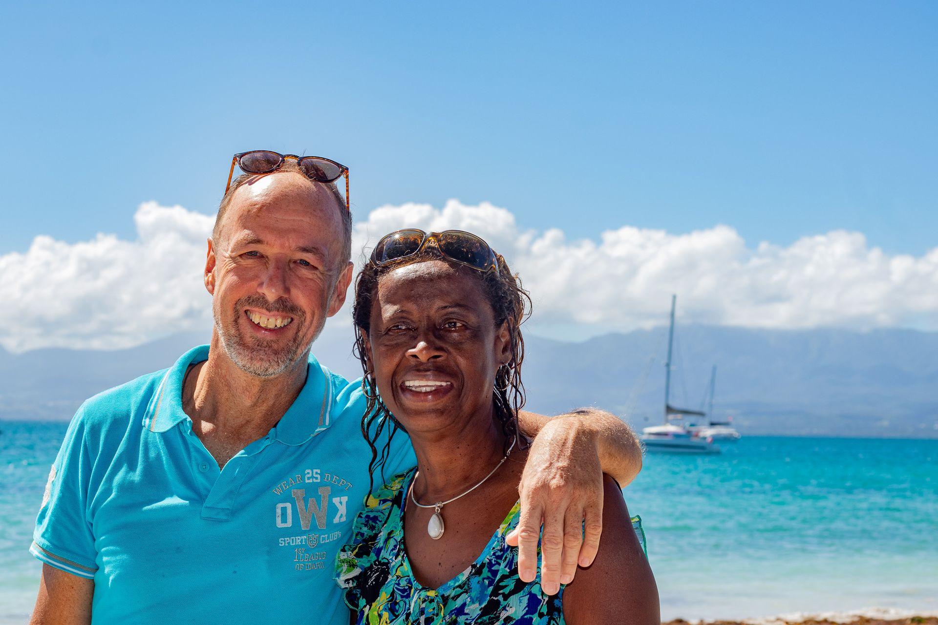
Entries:
{"label": "entire sky above the mountains, blue expanse and white clouds together", "polygon": [[673,293],[681,323],[938,331],[936,29],[926,2],[6,3],[0,291],[30,323],[0,347],[207,327],[250,149],[348,165],[354,250],[477,232],[531,332],[654,327]]}

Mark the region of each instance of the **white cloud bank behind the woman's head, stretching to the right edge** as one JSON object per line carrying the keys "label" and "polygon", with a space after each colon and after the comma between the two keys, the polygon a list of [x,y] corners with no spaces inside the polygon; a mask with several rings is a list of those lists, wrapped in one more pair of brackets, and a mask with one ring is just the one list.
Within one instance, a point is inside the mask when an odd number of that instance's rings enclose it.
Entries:
{"label": "white cloud bank behind the woman's head, stretching to the right edge", "polygon": [[623,226],[598,241],[522,230],[504,208],[448,201],[383,206],[356,225],[356,243],[395,228],[472,231],[501,252],[535,303],[537,325],[628,331],[665,320],[672,293],[683,320],[766,327],[884,326],[938,330],[938,248],[889,256],[859,232],[792,246],[747,246],[733,228],[688,234]]}

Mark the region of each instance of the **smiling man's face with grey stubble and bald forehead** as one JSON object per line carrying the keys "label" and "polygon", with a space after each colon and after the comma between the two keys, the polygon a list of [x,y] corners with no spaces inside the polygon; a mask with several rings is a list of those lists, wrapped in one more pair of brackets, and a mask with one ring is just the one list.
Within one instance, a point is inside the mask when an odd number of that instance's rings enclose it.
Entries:
{"label": "smiling man's face with grey stubble and bald forehead", "polygon": [[225,353],[264,378],[305,363],[352,278],[331,193],[294,172],[259,177],[235,191],[218,239],[205,287]]}

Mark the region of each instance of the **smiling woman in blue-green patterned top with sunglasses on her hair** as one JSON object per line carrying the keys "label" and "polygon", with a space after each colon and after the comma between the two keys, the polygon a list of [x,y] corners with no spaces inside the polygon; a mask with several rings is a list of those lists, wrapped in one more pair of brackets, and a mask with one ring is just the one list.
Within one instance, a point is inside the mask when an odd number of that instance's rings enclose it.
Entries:
{"label": "smiling woman in blue-green patterned top with sunglasses on her hair", "polygon": [[468,232],[392,232],[358,276],[371,473],[386,455],[376,441],[397,427],[417,467],[372,493],[340,551],[353,622],[659,622],[654,577],[610,478],[593,565],[556,595],[518,577],[505,537],[527,453],[517,414],[528,302],[505,260]]}

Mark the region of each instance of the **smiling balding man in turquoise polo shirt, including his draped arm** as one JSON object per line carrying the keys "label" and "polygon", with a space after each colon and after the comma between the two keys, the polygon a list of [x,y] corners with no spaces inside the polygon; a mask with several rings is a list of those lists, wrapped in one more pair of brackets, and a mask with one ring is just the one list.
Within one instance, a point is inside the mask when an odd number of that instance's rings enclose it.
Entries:
{"label": "smiling balding man in turquoise polo shirt, including his draped arm", "polygon": [[[310,348],[352,279],[351,216],[294,163],[226,192],[204,269],[209,346],[86,401],[38,515],[33,623],[347,623],[336,551],[368,490],[357,383]],[[604,469],[627,484],[641,451],[612,415],[547,421],[522,480],[520,573],[553,593],[598,543]],[[406,439],[391,472],[416,464]],[[581,548],[582,522],[587,536]],[[566,530],[566,531],[565,531]]]}

